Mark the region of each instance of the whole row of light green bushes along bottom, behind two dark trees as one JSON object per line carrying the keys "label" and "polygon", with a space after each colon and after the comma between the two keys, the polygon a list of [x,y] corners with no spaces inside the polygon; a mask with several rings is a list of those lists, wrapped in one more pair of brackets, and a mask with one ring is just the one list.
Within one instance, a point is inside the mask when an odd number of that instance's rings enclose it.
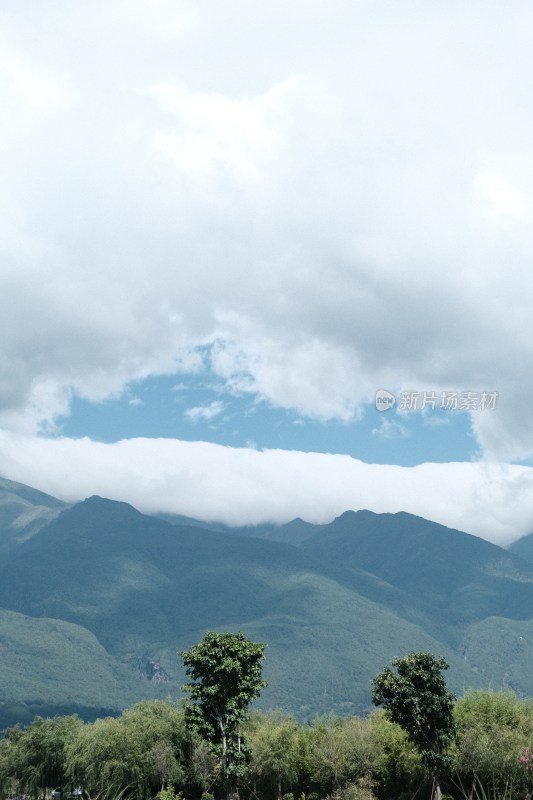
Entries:
{"label": "whole row of light green bushes along bottom, behind two dark trees", "polygon": [[[471,691],[456,701],[454,719],[443,800],[531,797],[533,703],[512,692]],[[313,724],[255,711],[241,727],[251,752],[241,800],[409,800],[429,792],[420,752],[383,710]],[[6,731],[0,798],[46,796],[60,785],[82,786],[102,800],[215,800],[222,780],[184,711],[143,701],[116,719],[36,717]]]}

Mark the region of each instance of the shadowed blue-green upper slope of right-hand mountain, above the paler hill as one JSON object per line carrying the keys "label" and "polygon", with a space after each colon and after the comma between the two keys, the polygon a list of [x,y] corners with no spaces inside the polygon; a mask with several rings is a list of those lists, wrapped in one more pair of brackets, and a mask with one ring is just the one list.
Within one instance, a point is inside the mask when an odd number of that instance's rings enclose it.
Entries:
{"label": "shadowed blue-green upper slope of right-hand mountain, above the paler hill", "polygon": [[434,635],[457,646],[471,624],[533,616],[533,567],[513,553],[404,512],[348,511],[302,543],[322,563],[372,573],[423,608]]}

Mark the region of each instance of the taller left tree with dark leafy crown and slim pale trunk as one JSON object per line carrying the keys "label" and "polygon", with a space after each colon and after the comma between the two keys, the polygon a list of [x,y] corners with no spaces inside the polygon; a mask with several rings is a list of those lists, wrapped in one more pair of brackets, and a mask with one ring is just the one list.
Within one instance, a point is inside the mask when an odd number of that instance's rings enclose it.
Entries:
{"label": "taller left tree with dark leafy crown and slim pale trunk", "polygon": [[183,687],[191,695],[185,719],[217,756],[228,800],[233,800],[237,778],[245,774],[249,761],[241,725],[249,704],[266,686],[261,677],[265,647],[242,633],[209,631],[180,653],[187,675],[195,681]]}

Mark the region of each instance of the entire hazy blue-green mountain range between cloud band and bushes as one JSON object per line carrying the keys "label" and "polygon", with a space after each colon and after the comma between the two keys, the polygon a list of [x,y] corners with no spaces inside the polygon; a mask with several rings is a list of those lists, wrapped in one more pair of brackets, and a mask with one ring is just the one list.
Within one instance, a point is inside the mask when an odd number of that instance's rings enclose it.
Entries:
{"label": "entire hazy blue-green mountain range between cloud band and bushes", "polygon": [[299,717],[367,710],[373,675],[408,650],[444,655],[456,692],[533,694],[533,564],[466,533],[368,511],[209,530],[5,480],[1,508],[2,725],[178,697],[177,651],[208,629],[266,642],[260,705]]}

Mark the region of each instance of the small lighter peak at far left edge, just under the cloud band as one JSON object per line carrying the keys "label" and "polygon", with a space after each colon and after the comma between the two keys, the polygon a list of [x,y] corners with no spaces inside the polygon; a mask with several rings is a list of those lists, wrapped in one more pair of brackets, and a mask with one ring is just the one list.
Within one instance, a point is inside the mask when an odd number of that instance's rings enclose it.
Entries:
{"label": "small lighter peak at far left edge, just under the cloud band", "polygon": [[44,492],[0,478],[0,556],[34,536],[66,507]]}

